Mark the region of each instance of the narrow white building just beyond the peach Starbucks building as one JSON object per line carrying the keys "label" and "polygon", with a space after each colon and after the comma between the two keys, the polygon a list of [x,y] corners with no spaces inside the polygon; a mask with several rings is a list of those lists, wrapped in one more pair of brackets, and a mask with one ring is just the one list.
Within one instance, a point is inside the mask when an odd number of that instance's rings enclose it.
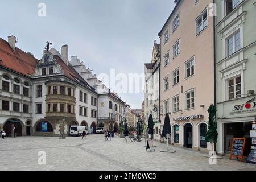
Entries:
{"label": "narrow white building just beyond the peach Starbucks building", "polygon": [[154,42],[151,63],[144,64],[145,72],[145,121],[148,125],[148,117],[152,114],[154,120],[154,139],[160,141],[159,122],[159,74],[160,74],[160,44]]}

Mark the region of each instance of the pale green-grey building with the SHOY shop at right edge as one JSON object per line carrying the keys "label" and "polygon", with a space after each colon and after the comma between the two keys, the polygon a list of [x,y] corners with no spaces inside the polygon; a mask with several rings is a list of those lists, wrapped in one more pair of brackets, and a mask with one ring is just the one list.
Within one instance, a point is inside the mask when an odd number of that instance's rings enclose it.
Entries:
{"label": "pale green-grey building with the SHOY shop at right edge", "polygon": [[230,154],[232,138],[246,138],[256,117],[255,1],[217,1],[216,98],[217,152]]}

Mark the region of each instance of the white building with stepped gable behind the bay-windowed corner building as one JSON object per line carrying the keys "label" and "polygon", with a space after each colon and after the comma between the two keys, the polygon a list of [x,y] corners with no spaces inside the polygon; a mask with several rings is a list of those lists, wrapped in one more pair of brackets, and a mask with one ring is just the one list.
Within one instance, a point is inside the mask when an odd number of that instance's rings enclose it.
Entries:
{"label": "white building with stepped gable behind the bay-windowed corner building", "polygon": [[117,93],[111,92],[102,81],[98,80],[90,68],[86,68],[84,63],[77,59],[77,56],[71,57],[71,64],[98,94],[97,126],[104,126],[105,130],[115,130],[117,132],[121,121],[127,117],[127,104],[122,101]]}

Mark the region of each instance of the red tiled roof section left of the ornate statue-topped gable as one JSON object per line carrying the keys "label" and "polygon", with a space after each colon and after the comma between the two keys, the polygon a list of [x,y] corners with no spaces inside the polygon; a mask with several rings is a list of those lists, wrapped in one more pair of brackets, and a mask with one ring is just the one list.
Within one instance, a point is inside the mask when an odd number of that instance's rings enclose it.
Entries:
{"label": "red tiled roof section left of the ornate statue-topped gable", "polygon": [[16,47],[16,50],[9,46],[6,40],[0,38],[0,65],[12,69],[22,75],[33,75],[38,60],[29,53]]}

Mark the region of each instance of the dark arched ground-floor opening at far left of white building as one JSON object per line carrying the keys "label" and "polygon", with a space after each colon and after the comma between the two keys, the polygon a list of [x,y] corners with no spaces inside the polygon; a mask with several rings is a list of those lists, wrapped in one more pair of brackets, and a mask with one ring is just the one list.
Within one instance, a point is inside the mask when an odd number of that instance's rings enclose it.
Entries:
{"label": "dark arched ground-floor opening at far left of white building", "polygon": [[15,127],[14,133],[17,136],[23,135],[24,123],[20,119],[9,118],[3,123],[3,131],[8,137],[11,137],[13,127]]}

